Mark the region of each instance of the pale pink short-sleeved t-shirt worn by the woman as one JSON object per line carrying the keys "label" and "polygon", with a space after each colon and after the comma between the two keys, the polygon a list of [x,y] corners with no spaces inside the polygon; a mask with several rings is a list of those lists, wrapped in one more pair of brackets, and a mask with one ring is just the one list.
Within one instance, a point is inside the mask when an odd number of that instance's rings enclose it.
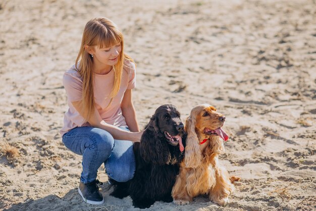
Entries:
{"label": "pale pink short-sleeved t-shirt worn by the woman", "polygon": [[[106,75],[94,73],[93,94],[96,108],[101,118],[108,124],[127,127],[125,118],[122,115],[121,102],[125,91],[131,90],[136,86],[135,71],[135,64],[126,60],[124,62],[120,90],[113,98],[113,101],[108,108],[107,106],[111,99],[108,99],[107,97],[113,89],[114,69]],[[79,72],[75,70],[75,65],[65,72],[63,76],[63,83],[67,93],[67,103],[69,109],[65,113],[64,127],[60,131],[62,136],[78,126],[91,126],[84,120],[71,103],[80,101],[82,98],[82,78]]]}

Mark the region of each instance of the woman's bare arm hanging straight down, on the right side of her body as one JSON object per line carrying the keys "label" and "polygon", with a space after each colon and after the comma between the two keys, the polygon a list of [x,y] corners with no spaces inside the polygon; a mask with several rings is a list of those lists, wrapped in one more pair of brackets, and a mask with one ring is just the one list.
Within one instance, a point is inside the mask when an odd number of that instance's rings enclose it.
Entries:
{"label": "woman's bare arm hanging straight down, on the right side of her body", "polygon": [[121,103],[122,114],[131,132],[139,132],[136,111],[132,101],[132,90],[126,90]]}

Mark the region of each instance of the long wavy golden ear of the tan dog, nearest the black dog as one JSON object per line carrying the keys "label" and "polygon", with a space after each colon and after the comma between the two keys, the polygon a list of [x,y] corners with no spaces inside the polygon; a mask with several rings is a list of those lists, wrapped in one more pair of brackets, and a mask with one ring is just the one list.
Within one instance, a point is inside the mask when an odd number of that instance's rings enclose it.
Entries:
{"label": "long wavy golden ear of the tan dog, nearest the black dog", "polygon": [[199,146],[199,140],[195,133],[196,119],[190,115],[185,123],[185,129],[187,131],[187,139],[184,154],[184,163],[186,167],[196,167],[201,163],[201,150]]}

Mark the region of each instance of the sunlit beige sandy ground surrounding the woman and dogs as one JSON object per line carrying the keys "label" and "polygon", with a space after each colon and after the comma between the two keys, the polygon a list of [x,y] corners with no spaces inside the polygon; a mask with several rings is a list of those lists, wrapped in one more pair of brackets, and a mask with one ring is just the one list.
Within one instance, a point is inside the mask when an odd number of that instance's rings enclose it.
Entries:
{"label": "sunlit beige sandy ground surrounding the woman and dogs", "polygon": [[[316,209],[316,3],[300,1],[0,1],[0,209],[138,210],[77,192],[81,157],[63,145],[62,75],[85,23],[112,19],[137,63],[143,127],[161,104],[227,116],[221,162],[241,177],[226,207],[196,197],[147,210]],[[17,149],[10,157],[9,148]],[[12,151],[12,150],[11,150]],[[101,181],[107,176],[98,173]]]}

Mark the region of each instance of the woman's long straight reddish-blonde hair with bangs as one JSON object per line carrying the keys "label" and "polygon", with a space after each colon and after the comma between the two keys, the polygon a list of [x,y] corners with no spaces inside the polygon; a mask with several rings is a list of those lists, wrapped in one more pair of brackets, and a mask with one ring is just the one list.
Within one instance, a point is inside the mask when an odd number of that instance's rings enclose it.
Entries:
{"label": "woman's long straight reddish-blonde hair with bangs", "polygon": [[[109,98],[111,98],[109,105],[120,90],[124,60],[127,59],[133,63],[134,61],[128,55],[124,54],[123,34],[115,23],[108,18],[95,18],[87,22],[83,31],[81,47],[75,65],[76,70],[82,77],[81,103],[83,105],[83,117],[87,121],[94,112],[95,102],[93,95],[93,58],[88,53],[88,50],[85,49],[85,46],[108,48],[118,43],[121,44],[122,50],[118,56],[118,63],[113,67],[115,72],[114,85],[109,96]],[[79,66],[77,66],[78,64]]]}

